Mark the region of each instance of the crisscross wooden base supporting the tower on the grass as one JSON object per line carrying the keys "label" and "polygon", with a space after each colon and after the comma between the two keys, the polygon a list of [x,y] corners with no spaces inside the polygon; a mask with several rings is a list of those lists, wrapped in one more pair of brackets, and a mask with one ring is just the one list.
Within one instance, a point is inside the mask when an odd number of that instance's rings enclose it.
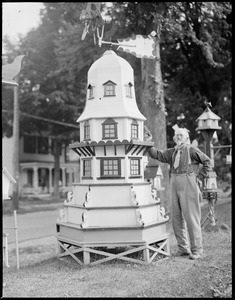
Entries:
{"label": "crisscross wooden base supporting the tower on the grass", "polygon": [[59,257],[70,255],[79,265],[97,265],[114,259],[149,264],[158,254],[170,256],[169,234],[164,234],[151,242],[81,243],[61,236],[56,238]]}

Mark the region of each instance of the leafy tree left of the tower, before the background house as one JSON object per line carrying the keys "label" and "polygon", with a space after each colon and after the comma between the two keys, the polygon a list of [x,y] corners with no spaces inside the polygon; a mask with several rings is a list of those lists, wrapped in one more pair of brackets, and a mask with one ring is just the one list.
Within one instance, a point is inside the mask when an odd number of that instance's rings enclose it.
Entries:
{"label": "leafy tree left of the tower, before the background house", "polygon": [[[45,4],[41,25],[20,40],[17,51],[26,55],[20,74],[20,109],[35,116],[76,124],[81,107],[76,103],[76,92],[66,88],[67,82],[61,76],[55,55],[56,40],[64,22],[60,17],[62,11],[63,7],[57,6],[55,13],[53,3]],[[54,191],[55,197],[59,197],[59,149],[79,135],[78,129],[24,117],[20,130],[21,135],[46,131],[54,137]]]}

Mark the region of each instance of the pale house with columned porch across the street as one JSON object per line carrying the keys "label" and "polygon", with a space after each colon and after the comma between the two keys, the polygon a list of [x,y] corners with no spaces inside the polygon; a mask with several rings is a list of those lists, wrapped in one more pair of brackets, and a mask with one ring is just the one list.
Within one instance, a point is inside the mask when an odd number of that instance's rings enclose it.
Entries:
{"label": "pale house with columned porch across the street", "polygon": [[[2,139],[2,165],[13,172],[13,138]],[[19,143],[19,195],[46,196],[53,193],[54,155],[53,138],[24,135]],[[61,149],[60,192],[66,193],[74,182],[79,182],[80,160],[72,150]]]}

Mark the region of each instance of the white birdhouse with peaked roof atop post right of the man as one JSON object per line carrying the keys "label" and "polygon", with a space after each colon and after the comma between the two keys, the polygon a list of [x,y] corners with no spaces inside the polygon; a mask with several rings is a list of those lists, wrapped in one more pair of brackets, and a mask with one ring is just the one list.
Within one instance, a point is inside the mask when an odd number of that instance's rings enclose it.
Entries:
{"label": "white birdhouse with peaked roof atop post right of the man", "polygon": [[218,125],[218,121],[220,119],[221,118],[214,114],[207,106],[206,110],[196,120],[198,122],[196,131],[203,131],[207,129],[221,129],[221,127]]}

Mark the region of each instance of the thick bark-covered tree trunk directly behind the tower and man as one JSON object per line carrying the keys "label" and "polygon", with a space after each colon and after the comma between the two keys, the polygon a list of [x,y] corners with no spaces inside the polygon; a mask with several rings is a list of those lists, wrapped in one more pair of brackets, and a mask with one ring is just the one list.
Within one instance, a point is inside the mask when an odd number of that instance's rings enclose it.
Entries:
{"label": "thick bark-covered tree trunk directly behind the tower and man", "polygon": [[[153,142],[157,149],[166,149],[166,115],[163,80],[160,61],[160,43],[155,38],[156,58],[141,59],[142,96],[140,110],[147,118],[146,125],[153,136]],[[160,163],[149,158],[149,165],[160,165],[163,173],[162,186],[164,191],[160,192],[163,206],[170,210],[170,189],[168,164]]]}

